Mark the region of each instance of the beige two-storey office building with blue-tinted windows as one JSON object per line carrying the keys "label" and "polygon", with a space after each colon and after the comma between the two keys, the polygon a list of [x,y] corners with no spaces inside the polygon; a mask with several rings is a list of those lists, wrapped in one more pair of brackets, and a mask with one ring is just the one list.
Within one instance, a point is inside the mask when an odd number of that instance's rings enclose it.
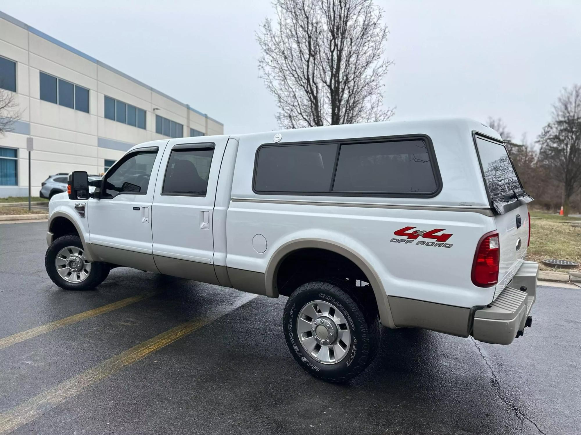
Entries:
{"label": "beige two-storey office building with blue-tinted windows", "polygon": [[28,194],[49,175],[100,174],[148,140],[220,135],[224,126],[188,104],[0,12],[0,92],[21,112],[0,135],[0,197]]}

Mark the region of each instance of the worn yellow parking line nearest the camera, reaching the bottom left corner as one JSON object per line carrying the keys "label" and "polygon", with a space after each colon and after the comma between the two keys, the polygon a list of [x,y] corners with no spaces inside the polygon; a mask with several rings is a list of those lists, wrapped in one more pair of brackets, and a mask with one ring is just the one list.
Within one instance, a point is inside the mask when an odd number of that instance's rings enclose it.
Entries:
{"label": "worn yellow parking line nearest the camera, reaching the bottom left corner", "polygon": [[45,414],[45,412],[58,407],[58,405],[69,400],[71,397],[81,393],[85,388],[94,385],[105,378],[109,378],[109,376],[114,375],[128,365],[134,364],[134,362],[145,358],[150,353],[155,352],[156,350],[173,343],[175,340],[188,335],[196,329],[228,314],[232,310],[235,310],[246,302],[256,298],[256,296],[257,295],[252,294],[242,296],[241,298],[236,299],[232,305],[223,307],[211,314],[209,317],[184,322],[169,331],[160,333],[137,346],[131,347],[131,349],[125,350],[124,352],[101,362],[101,364],[98,364],[95,367],[85,370],[81,374],[65,380],[59,385],[44,391],[44,393],[38,394],[38,396],[30,398],[14,408],[2,412],[2,414],[0,414],[0,435],[10,433],[20,426],[30,423],[34,419]]}

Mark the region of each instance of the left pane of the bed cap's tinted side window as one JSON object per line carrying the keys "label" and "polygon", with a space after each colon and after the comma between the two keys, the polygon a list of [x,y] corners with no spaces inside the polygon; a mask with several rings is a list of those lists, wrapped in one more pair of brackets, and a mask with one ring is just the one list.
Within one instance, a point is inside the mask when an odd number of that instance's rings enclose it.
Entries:
{"label": "left pane of the bed cap's tinted side window", "polygon": [[332,143],[261,147],[254,190],[328,192],[337,147]]}

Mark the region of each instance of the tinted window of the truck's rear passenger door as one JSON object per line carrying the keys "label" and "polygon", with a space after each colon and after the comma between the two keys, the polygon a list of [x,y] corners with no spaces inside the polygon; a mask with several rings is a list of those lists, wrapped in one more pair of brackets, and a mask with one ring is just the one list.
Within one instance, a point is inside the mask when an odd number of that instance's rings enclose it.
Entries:
{"label": "tinted window of the truck's rear passenger door", "polygon": [[167,162],[162,195],[206,196],[214,148],[174,148]]}

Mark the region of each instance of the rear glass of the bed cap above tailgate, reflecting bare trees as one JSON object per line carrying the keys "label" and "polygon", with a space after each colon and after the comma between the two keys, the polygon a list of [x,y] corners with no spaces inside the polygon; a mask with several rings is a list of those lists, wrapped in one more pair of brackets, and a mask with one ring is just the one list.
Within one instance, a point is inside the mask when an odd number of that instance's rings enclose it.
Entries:
{"label": "rear glass of the bed cap above tailgate, reflecting bare trees", "polygon": [[476,137],[476,147],[490,198],[522,190],[517,173],[503,145]]}

